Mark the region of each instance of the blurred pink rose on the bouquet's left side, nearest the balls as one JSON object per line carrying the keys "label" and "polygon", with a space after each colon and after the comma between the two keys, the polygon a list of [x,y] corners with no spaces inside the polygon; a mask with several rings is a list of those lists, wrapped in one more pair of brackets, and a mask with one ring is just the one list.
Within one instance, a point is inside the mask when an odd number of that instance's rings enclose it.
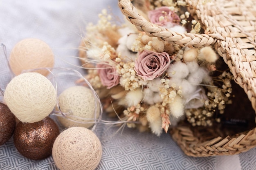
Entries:
{"label": "blurred pink rose on the bouquet's left side, nearest the balls", "polygon": [[99,77],[103,86],[107,86],[108,89],[119,84],[120,76],[117,74],[114,67],[108,64],[97,64]]}

